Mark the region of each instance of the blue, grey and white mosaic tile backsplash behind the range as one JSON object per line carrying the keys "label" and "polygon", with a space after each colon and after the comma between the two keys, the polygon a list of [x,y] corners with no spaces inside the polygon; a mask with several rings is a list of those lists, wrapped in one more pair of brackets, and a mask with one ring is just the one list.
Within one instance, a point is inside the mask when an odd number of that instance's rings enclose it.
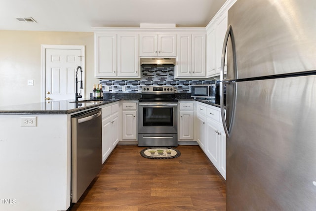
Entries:
{"label": "blue, grey and white mosaic tile backsplash behind the range", "polygon": [[[208,80],[178,80],[174,79],[174,66],[142,66],[142,76],[139,80],[100,80],[103,92],[141,93],[142,86],[147,85],[172,85],[177,88],[177,93],[191,93],[191,85],[214,84]],[[106,91],[106,86],[109,91]],[[123,91],[125,89],[125,91]]]}

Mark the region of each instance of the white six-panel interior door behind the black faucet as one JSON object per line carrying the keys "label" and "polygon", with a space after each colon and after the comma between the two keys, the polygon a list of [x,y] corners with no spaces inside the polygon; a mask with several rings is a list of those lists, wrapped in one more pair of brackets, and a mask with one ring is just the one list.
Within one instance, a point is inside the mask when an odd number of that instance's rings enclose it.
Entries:
{"label": "white six-panel interior door behind the black faucet", "polygon": [[[76,70],[82,67],[82,49],[45,49],[45,100],[74,99],[76,93]],[[84,74],[78,81],[84,80]],[[78,92],[83,95],[84,91],[79,88]],[[84,98],[84,96],[82,96]]]}

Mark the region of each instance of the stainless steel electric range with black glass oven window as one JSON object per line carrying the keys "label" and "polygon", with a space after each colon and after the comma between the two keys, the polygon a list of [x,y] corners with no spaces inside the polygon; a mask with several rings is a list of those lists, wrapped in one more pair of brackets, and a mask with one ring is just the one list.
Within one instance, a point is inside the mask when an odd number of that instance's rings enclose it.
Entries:
{"label": "stainless steel electric range with black glass oven window", "polygon": [[138,146],[178,146],[175,88],[144,86],[138,102]]}

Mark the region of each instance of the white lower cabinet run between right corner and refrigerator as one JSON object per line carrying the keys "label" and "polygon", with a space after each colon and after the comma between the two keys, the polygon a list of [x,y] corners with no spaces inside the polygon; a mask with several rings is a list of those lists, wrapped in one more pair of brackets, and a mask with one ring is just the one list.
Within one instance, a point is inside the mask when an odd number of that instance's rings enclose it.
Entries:
{"label": "white lower cabinet run between right corner and refrigerator", "polygon": [[197,102],[197,143],[226,179],[226,134],[220,108]]}

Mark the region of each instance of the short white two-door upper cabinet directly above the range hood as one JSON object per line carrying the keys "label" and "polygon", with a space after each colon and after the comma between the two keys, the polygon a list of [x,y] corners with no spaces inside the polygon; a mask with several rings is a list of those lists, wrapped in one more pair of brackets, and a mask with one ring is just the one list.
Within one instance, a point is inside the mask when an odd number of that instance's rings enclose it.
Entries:
{"label": "short white two-door upper cabinet directly above the range hood", "polygon": [[141,34],[140,56],[176,56],[176,34]]}

